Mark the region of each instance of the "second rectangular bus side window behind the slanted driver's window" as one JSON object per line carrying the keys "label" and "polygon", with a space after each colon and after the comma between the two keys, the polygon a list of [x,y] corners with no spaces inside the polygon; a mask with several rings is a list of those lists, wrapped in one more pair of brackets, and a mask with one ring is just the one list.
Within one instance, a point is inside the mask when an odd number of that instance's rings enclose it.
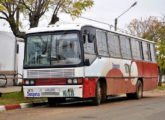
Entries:
{"label": "second rectangular bus side window behind the slanted driver's window", "polygon": [[111,57],[121,57],[119,37],[117,34],[108,33],[108,46]]}

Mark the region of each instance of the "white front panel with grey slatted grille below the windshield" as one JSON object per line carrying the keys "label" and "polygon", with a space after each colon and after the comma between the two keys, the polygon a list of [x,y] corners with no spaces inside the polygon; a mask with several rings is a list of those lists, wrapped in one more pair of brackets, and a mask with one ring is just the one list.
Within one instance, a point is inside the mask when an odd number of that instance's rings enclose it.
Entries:
{"label": "white front panel with grey slatted grille below the windshield", "polygon": [[25,79],[84,77],[84,67],[24,69]]}

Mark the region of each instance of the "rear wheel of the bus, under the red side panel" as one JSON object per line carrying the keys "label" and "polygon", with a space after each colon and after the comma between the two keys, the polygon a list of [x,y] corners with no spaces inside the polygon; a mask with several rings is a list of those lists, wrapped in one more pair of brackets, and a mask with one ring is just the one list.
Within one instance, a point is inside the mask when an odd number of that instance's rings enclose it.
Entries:
{"label": "rear wheel of the bus, under the red side panel", "polygon": [[135,98],[140,99],[142,97],[143,97],[143,84],[140,80],[138,80],[136,84]]}

